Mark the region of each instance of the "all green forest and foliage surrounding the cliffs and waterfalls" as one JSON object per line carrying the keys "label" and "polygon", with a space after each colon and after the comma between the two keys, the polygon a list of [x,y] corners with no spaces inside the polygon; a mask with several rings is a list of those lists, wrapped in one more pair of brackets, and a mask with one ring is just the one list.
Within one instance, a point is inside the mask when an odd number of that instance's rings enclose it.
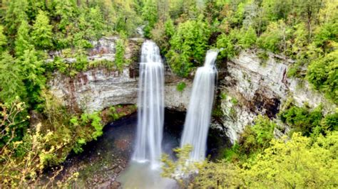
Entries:
{"label": "all green forest and foliage surrounding the cliffs and waterfalls", "polygon": [[[273,53],[294,60],[287,77],[309,83],[327,100],[299,107],[290,97],[277,117],[257,115],[217,161],[187,164],[191,146],[177,148],[177,161],[163,155],[163,177],[181,188],[338,187],[338,1],[3,0],[0,188],[51,186],[70,153],[81,154],[106,124],[135,111],[135,105],[91,113],[72,109],[51,94],[48,80],[54,72],[74,78],[98,67],[123,72],[130,65],[128,38],[140,27],[177,77],[191,80],[209,49],[220,49],[219,68],[243,50],[261,60]],[[92,42],[104,36],[118,36],[115,60],[88,60]],[[62,55],[50,60],[51,52]],[[185,83],[177,88],[184,90]],[[281,124],[290,129],[275,137]],[[41,183],[49,168],[55,168],[53,175]],[[187,180],[177,177],[178,169],[198,173]],[[54,186],[67,187],[77,176]]]}

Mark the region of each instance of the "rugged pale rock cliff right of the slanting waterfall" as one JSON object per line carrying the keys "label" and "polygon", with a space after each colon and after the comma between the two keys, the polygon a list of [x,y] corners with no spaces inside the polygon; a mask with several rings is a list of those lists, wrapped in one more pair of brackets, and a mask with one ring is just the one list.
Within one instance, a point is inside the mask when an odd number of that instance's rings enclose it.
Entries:
{"label": "rugged pale rock cliff right of the slanting waterfall", "polygon": [[290,63],[292,60],[272,54],[263,61],[255,53],[244,51],[227,62],[225,77],[220,78],[220,91],[225,96],[221,99],[222,124],[232,142],[257,114],[274,118],[288,99],[294,99],[298,106],[329,104],[324,112],[334,111],[332,103],[311,90],[309,83],[287,77]]}

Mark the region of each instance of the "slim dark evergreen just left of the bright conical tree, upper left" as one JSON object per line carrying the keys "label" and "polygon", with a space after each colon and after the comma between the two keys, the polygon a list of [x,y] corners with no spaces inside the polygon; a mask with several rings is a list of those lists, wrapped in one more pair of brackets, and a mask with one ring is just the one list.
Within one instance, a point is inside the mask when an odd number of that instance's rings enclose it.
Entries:
{"label": "slim dark evergreen just left of the bright conical tree, upper left", "polygon": [[17,57],[24,55],[24,51],[33,48],[29,36],[29,23],[22,21],[15,41],[15,54]]}

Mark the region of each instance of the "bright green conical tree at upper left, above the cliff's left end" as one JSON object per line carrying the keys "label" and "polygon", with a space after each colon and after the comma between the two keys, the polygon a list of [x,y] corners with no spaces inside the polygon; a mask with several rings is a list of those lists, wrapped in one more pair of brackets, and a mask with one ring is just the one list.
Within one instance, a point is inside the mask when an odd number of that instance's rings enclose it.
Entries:
{"label": "bright green conical tree at upper left, above the cliff's left end", "polygon": [[49,24],[49,18],[46,15],[46,12],[39,11],[31,33],[32,40],[34,41],[36,47],[41,49],[52,47],[52,29],[53,26]]}

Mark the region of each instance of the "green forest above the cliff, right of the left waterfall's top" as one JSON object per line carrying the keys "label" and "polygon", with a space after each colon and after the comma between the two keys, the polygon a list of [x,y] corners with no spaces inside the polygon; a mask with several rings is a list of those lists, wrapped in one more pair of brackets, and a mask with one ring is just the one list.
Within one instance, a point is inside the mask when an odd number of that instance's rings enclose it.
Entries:
{"label": "green forest above the cliff, right of the left waterfall's top", "polygon": [[337,103],[337,1],[157,2],[157,16],[148,14],[147,31],[153,28],[147,36],[176,74],[190,75],[210,48],[219,48],[225,59],[260,48],[296,60],[288,75],[307,79]]}

